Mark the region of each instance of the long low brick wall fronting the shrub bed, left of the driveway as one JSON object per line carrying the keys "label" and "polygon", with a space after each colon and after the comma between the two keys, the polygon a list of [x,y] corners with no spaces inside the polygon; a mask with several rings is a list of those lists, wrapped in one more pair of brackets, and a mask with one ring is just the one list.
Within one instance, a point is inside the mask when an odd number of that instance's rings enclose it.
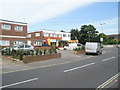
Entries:
{"label": "long low brick wall fronting the shrub bed, left of the driveway", "polygon": [[37,56],[25,56],[23,62],[30,63],[30,62],[44,61],[44,60],[60,58],[60,57],[61,57],[61,53],[37,55]]}

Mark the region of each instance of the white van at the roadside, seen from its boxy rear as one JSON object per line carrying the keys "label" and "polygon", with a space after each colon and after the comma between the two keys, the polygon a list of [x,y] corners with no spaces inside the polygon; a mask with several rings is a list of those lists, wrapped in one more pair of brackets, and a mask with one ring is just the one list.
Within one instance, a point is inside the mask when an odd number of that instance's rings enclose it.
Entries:
{"label": "white van at the roadside, seen from its boxy rear", "polygon": [[101,43],[98,42],[86,42],[85,44],[85,53],[90,54],[90,53],[94,53],[94,54],[102,54],[102,45]]}

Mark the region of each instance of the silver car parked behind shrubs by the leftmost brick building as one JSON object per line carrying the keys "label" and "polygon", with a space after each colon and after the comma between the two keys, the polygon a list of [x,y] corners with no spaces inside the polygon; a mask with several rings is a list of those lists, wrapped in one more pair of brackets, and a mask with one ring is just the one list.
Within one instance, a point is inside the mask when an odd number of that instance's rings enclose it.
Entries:
{"label": "silver car parked behind shrubs by the leftmost brick building", "polygon": [[14,50],[23,50],[23,51],[25,52],[25,51],[34,50],[34,47],[31,46],[31,45],[22,44],[22,45],[15,45],[15,46],[12,46],[12,47],[6,47],[6,48],[3,48],[2,50],[6,50],[6,49],[10,49],[11,51],[12,51],[13,49],[14,49]]}

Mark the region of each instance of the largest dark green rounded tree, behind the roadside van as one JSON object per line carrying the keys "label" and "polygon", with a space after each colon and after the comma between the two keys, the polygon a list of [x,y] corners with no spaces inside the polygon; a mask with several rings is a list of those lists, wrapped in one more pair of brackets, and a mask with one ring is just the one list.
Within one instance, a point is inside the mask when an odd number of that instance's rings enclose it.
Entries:
{"label": "largest dark green rounded tree, behind the roadside van", "polygon": [[99,41],[98,31],[93,25],[83,25],[81,26],[79,42],[85,44],[85,42]]}

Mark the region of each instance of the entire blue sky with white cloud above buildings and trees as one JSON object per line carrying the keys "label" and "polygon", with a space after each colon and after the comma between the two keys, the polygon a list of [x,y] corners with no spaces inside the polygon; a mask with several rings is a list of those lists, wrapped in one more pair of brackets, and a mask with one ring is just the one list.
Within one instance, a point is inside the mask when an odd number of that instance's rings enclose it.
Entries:
{"label": "entire blue sky with white cloud above buildings and trees", "polygon": [[118,1],[0,0],[0,18],[26,22],[28,32],[40,29],[70,32],[91,24],[99,33],[103,30],[107,35],[117,34]]}

